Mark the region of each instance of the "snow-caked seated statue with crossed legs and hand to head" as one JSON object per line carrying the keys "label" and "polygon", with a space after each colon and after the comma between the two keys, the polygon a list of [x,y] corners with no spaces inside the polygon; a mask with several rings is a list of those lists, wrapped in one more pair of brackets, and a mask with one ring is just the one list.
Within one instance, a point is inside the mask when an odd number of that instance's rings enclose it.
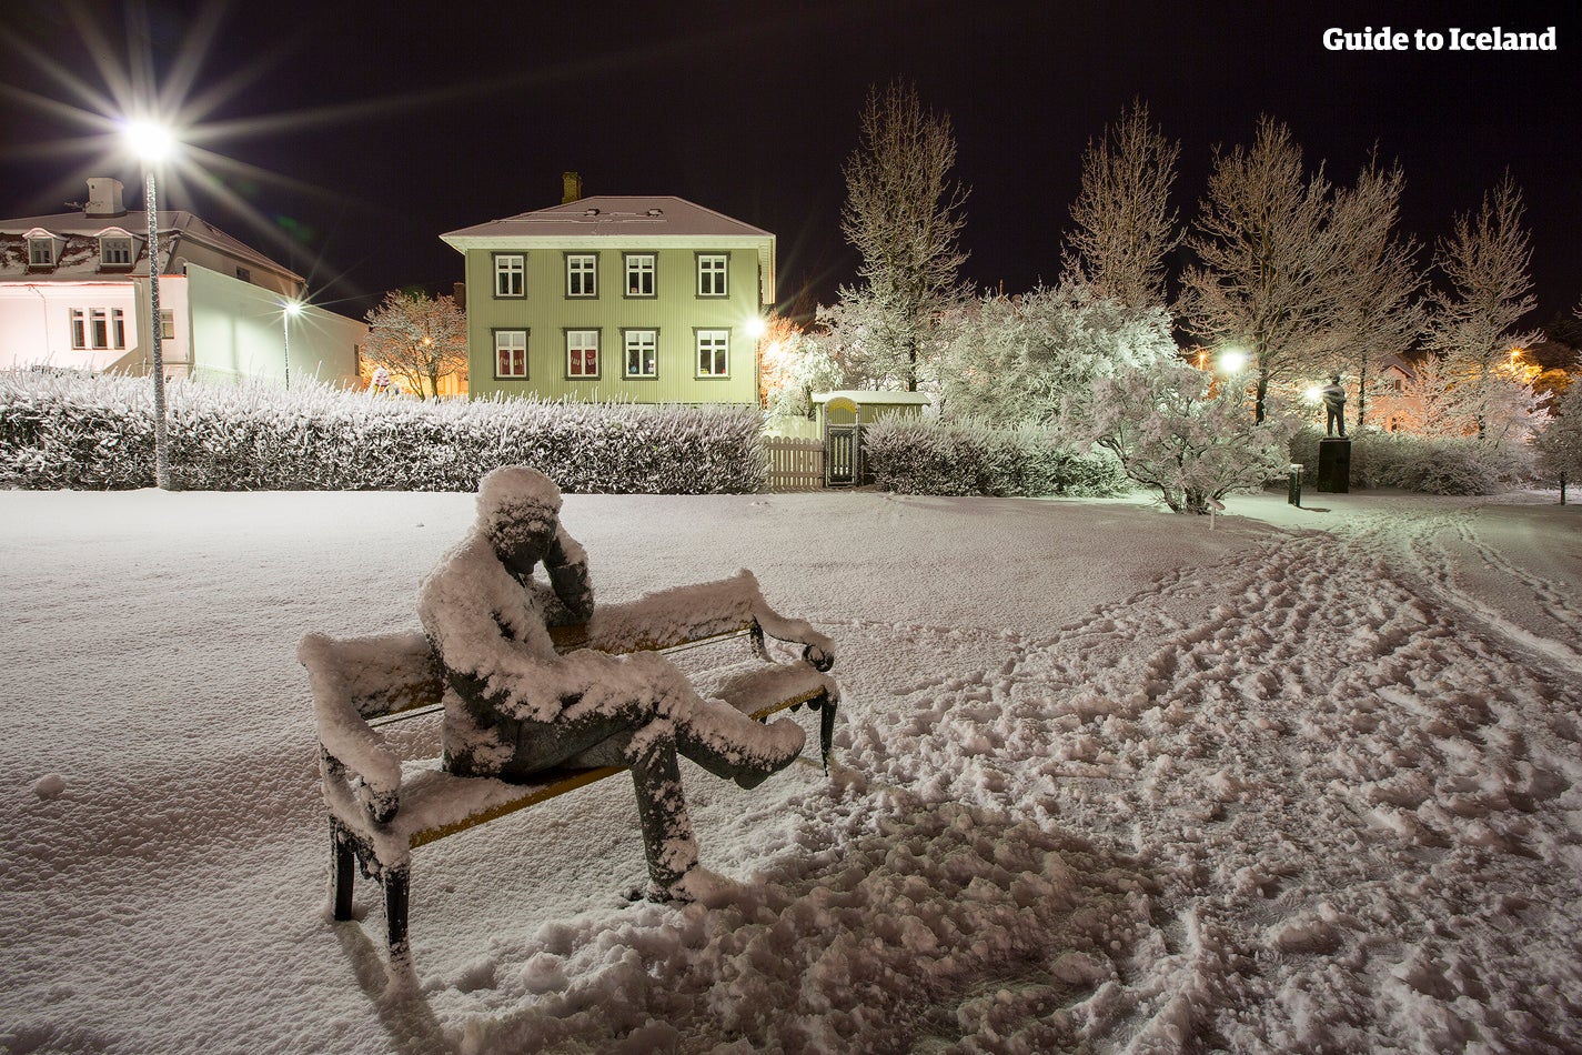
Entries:
{"label": "snow-caked seated statue with crossed legs and hand to head", "polygon": [[[701,698],[657,653],[557,655],[549,625],[593,615],[587,555],[560,525],[560,490],[506,467],[478,487],[473,530],[422,582],[418,615],[445,666],[445,766],[527,778],[555,766],[631,767],[649,897],[683,898],[698,864],[677,754],[751,788],[789,766],[804,732]],[[533,577],[543,563],[547,585]],[[704,590],[704,595],[707,592]]]}

